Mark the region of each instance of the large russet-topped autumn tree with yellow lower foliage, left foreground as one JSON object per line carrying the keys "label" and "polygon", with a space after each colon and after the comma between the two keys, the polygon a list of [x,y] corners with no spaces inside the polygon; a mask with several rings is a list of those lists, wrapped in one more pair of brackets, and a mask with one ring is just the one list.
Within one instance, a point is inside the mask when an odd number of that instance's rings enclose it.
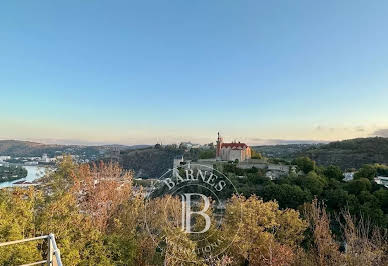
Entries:
{"label": "large russet-topped autumn tree with yellow lower foliage, left foreground", "polygon": [[113,214],[130,197],[132,174],[117,164],[90,167],[65,157],[46,179],[54,193],[46,197],[37,226],[56,235],[63,263],[111,265],[105,233]]}

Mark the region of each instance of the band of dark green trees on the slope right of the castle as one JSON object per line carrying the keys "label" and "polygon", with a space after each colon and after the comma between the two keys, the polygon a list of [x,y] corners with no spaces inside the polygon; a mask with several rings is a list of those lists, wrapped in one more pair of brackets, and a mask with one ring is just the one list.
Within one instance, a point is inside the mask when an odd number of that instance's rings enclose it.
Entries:
{"label": "band of dark green trees on the slope right of the castle", "polygon": [[354,180],[344,182],[342,171],[336,166],[317,167],[306,157],[297,158],[295,163],[303,174],[291,173],[274,181],[258,169],[244,170],[230,165],[224,167],[224,173],[245,196],[255,194],[264,200],[276,200],[281,208],[299,210],[317,198],[325,202],[327,211],[333,215],[346,208],[355,217],[364,217],[372,224],[388,228],[388,189],[373,181],[377,169],[386,169],[385,166],[365,165],[356,172]]}

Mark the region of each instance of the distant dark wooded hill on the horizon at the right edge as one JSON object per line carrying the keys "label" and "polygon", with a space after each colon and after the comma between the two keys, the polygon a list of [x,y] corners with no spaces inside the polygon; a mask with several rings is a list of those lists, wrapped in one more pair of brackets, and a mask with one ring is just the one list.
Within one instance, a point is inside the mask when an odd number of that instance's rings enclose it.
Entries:
{"label": "distant dark wooded hill on the horizon at the right edge", "polygon": [[357,138],[310,147],[306,155],[318,165],[338,165],[342,169],[359,168],[363,164],[388,164],[388,138]]}

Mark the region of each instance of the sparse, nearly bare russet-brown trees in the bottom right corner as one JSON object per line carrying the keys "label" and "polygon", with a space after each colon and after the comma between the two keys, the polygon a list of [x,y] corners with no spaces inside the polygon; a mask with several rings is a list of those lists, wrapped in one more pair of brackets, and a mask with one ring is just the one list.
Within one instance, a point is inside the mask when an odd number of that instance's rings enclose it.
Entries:
{"label": "sparse, nearly bare russet-brown trees in the bottom right corner", "polygon": [[304,215],[309,221],[312,243],[306,251],[297,254],[295,265],[386,265],[388,262],[386,234],[362,217],[352,217],[347,210],[338,214],[341,239],[346,243],[346,252],[340,252],[325,206],[315,199],[306,204]]}

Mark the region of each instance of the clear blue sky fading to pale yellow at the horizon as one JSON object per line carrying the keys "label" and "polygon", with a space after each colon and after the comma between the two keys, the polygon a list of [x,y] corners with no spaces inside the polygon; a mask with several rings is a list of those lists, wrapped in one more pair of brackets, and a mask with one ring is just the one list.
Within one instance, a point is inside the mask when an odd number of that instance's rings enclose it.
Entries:
{"label": "clear blue sky fading to pale yellow at the horizon", "polygon": [[388,137],[388,1],[6,0],[0,139]]}

